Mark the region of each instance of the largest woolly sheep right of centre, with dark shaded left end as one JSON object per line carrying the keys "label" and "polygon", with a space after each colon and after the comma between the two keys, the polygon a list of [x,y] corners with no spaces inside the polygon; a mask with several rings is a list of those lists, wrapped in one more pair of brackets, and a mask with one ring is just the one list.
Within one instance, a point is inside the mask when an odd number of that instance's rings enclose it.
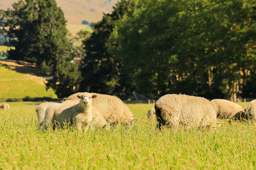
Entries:
{"label": "largest woolly sheep right of centre, with dark shaded left end", "polygon": [[167,125],[174,128],[185,125],[186,128],[206,127],[216,129],[217,117],[210,101],[203,97],[188,95],[164,95],[155,103],[158,121],[156,128]]}

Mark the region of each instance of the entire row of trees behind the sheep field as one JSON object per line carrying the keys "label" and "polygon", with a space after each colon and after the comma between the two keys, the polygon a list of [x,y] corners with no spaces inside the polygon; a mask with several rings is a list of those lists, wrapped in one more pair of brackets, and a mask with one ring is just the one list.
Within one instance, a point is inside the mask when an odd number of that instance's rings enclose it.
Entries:
{"label": "entire row of trees behind the sheep field", "polygon": [[[63,12],[53,0],[19,1],[1,11],[9,53],[55,77],[59,97],[76,91],[129,96],[137,91],[208,98],[255,97],[254,0],[122,0],[84,36],[67,40]],[[82,35],[87,35],[83,33]],[[81,56],[79,65],[69,61]]]}

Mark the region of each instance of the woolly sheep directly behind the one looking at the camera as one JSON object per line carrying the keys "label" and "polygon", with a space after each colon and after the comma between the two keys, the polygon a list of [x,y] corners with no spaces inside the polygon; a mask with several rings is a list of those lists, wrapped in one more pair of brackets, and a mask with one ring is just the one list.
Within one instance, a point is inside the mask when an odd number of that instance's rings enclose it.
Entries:
{"label": "woolly sheep directly behind the one looking at the camera", "polygon": [[[69,96],[67,100],[77,100],[77,95],[79,94],[81,93],[73,94]],[[98,109],[102,117],[104,117],[109,124],[121,123],[130,127],[136,121],[133,117],[133,113],[131,113],[130,109],[118,97],[96,93],[91,94],[97,95],[97,97],[93,99],[93,107]]]}

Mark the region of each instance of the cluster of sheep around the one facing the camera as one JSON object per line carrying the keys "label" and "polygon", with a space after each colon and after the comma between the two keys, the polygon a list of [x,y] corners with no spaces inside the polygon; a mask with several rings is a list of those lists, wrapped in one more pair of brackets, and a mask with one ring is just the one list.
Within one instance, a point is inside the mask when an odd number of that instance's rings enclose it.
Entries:
{"label": "cluster of sheep around the one facing the camera", "polygon": [[79,131],[87,131],[89,126],[104,128],[119,123],[130,127],[136,121],[118,97],[88,92],[73,94],[63,103],[42,103],[36,107],[36,113],[38,125],[44,129],[70,124]]}

